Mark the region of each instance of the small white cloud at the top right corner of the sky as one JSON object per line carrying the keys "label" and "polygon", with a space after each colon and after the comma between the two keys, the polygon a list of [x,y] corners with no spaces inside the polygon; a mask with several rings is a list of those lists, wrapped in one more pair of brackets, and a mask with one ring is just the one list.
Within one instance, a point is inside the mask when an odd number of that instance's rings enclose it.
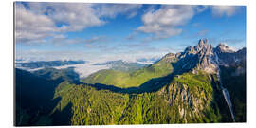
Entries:
{"label": "small white cloud at the top right corner of the sky", "polygon": [[222,16],[233,16],[239,7],[235,6],[212,6],[211,11],[213,16],[222,17]]}

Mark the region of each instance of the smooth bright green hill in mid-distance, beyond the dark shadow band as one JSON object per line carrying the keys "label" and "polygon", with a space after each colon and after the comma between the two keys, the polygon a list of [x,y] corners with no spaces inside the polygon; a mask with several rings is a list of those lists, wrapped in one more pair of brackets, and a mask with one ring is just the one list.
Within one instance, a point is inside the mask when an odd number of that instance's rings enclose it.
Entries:
{"label": "smooth bright green hill in mid-distance, beyond the dark shadow band", "polygon": [[151,79],[171,74],[173,72],[172,62],[174,61],[175,59],[170,60],[163,58],[155,64],[151,64],[131,73],[113,69],[101,70],[82,79],[82,82],[115,85],[121,88],[138,87]]}

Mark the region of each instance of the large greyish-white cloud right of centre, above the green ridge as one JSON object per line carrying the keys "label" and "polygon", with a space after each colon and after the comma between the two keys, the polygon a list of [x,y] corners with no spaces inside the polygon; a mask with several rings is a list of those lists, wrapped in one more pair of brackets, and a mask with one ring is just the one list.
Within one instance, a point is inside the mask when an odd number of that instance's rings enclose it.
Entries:
{"label": "large greyish-white cloud right of centre, above the green ridge", "polygon": [[194,14],[193,6],[162,6],[145,13],[142,16],[144,25],[137,30],[154,34],[154,39],[168,38],[180,34],[180,27],[187,24]]}

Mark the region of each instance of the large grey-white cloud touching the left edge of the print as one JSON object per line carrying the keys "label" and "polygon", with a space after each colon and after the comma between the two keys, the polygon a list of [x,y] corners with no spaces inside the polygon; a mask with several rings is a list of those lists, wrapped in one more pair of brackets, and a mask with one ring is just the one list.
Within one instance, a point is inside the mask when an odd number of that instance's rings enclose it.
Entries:
{"label": "large grey-white cloud touching the left edge of the print", "polygon": [[45,15],[36,15],[16,5],[15,36],[17,42],[43,41],[55,31],[54,22]]}

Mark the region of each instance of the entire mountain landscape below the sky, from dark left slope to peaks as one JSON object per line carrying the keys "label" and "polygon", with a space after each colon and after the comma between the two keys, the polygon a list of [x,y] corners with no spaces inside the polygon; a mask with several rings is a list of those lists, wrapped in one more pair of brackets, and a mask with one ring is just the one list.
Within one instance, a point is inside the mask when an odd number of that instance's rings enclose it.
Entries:
{"label": "entire mountain landscape below the sky, from dark left slope to peaks", "polygon": [[15,124],[246,122],[246,60],[246,48],[204,39],[154,64],[103,63],[111,68],[81,80],[73,68],[16,69]]}

